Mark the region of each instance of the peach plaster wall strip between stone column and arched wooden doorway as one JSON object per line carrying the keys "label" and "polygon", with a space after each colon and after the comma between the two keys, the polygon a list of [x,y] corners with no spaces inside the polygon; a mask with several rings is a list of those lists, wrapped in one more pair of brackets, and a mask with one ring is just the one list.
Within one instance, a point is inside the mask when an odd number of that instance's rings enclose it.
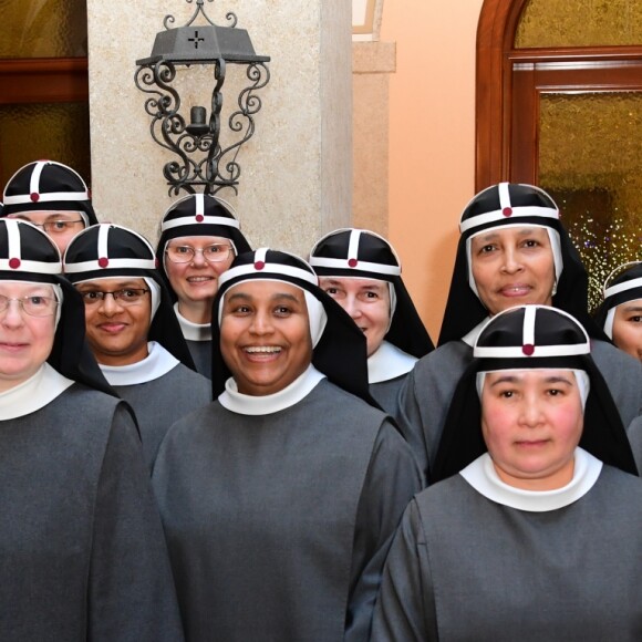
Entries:
{"label": "peach plaster wall strip between stone column and arched wooden doorway", "polygon": [[381,40],[396,42],[390,89],[389,238],[436,340],[474,195],[475,41],[483,0],[385,0]]}

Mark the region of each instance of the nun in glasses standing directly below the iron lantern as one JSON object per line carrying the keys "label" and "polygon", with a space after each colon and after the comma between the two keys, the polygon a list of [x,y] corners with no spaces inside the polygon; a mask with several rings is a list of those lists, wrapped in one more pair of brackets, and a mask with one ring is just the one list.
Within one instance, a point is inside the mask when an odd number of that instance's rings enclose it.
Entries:
{"label": "nun in glasses standing directly below the iron lantern", "polygon": [[163,216],[156,259],[196,370],[211,376],[211,304],[219,278],[234,258],[249,252],[231,206],[191,194]]}

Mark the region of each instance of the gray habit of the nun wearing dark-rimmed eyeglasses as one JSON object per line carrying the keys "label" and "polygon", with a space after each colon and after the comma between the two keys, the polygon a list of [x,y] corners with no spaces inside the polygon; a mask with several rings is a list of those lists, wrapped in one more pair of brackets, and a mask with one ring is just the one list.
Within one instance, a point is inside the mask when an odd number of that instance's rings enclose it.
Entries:
{"label": "gray habit of the nun wearing dark-rimmed eyeglasses", "polygon": [[209,380],[183,363],[158,379],[112,387],[134,408],[149,469],[169,426],[211,401]]}

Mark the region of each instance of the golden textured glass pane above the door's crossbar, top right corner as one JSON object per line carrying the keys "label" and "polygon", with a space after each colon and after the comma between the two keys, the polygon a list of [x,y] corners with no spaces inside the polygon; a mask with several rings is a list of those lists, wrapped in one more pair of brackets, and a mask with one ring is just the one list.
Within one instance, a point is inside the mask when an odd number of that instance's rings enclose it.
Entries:
{"label": "golden textured glass pane above the door's crossbar, top right corner", "polygon": [[530,0],[516,49],[642,44],[640,0]]}

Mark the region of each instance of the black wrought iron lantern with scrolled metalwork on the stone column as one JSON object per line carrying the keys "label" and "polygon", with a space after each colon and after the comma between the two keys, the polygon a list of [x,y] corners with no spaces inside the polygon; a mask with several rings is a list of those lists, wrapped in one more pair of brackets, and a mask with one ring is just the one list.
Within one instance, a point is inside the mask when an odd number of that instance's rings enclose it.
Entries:
{"label": "black wrought iron lantern with scrolled metalwork on the stone column", "polygon": [[[255,133],[255,115],[261,108],[256,94],[270,80],[266,63],[270,58],[257,55],[245,29],[236,29],[237,17],[228,12],[229,27],[218,27],[206,15],[203,4],[196,0],[196,10],[185,27],[170,29],[173,15],[166,15],[165,31],[156,34],[152,55],[136,61],[136,86],[147,94],[145,111],[152,116],[149,131],[162,147],[178,155],[163,167],[169,185],[169,195],[180,190],[189,194],[203,188],[205,194],[216,194],[231,188],[237,193],[241,168],[238,153]],[[208,0],[213,2],[214,0]],[[193,0],[187,0],[191,3]],[[198,14],[207,24],[194,24]],[[228,64],[246,66],[249,84],[240,90],[237,102],[228,118],[228,126],[236,137],[222,148],[219,143],[222,108],[222,84]],[[214,91],[209,118],[204,106],[190,108],[189,123],[179,113],[180,96],[172,86],[177,68],[210,65],[214,69]]]}

